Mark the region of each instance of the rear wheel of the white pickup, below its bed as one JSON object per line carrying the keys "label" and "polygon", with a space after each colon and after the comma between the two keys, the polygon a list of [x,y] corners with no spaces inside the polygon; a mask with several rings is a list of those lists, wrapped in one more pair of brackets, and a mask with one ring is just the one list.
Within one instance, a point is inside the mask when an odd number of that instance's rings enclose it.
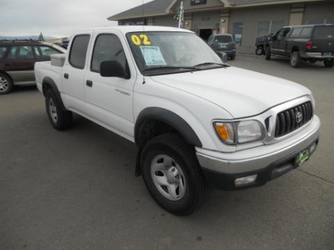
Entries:
{"label": "rear wheel of the white pickup, below its bed", "polygon": [[47,90],[45,94],[45,107],[54,128],[61,131],[72,126],[72,112],[62,108],[61,103],[59,103],[56,94],[52,90]]}

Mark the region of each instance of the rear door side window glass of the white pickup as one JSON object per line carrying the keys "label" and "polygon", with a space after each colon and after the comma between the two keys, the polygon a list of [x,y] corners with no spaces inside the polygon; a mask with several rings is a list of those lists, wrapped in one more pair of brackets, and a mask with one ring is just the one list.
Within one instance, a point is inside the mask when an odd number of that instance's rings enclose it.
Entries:
{"label": "rear door side window glass of the white pickup", "polygon": [[84,69],[90,35],[77,35],[72,42],[70,51],[70,65],[77,69]]}

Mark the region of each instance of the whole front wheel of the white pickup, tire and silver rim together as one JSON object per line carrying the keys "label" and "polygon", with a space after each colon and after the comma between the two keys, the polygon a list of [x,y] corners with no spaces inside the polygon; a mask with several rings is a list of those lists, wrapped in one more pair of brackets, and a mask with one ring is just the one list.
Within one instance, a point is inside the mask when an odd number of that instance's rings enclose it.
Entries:
{"label": "whole front wheel of the white pickup, tire and silver rim together", "polygon": [[209,193],[193,148],[177,133],[150,140],[141,154],[141,168],[153,199],[175,215],[193,213]]}

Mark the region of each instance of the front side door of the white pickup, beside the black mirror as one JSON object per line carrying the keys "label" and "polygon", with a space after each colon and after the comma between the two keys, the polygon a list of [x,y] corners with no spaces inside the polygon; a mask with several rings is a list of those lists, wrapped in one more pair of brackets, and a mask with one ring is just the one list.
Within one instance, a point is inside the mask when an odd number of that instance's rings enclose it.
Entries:
{"label": "front side door of the white pickup, beside the black mirror", "polygon": [[[116,133],[132,138],[134,134],[133,88],[136,70],[125,38],[116,33],[94,35],[90,51],[84,90],[88,115]],[[93,42],[92,42],[93,44]],[[103,61],[114,60],[122,65],[127,76],[104,77],[100,75]],[[130,66],[130,67],[129,67]]]}

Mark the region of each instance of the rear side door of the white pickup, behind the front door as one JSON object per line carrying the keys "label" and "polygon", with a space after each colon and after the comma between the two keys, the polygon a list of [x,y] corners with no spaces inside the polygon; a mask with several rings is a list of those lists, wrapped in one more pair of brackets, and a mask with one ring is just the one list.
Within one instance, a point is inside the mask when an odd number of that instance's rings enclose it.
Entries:
{"label": "rear side door of the white pickup, behind the front door", "polygon": [[62,90],[65,106],[79,113],[84,112],[84,80],[86,73],[86,58],[90,38],[93,32],[75,35],[70,45],[70,51],[63,66]]}

